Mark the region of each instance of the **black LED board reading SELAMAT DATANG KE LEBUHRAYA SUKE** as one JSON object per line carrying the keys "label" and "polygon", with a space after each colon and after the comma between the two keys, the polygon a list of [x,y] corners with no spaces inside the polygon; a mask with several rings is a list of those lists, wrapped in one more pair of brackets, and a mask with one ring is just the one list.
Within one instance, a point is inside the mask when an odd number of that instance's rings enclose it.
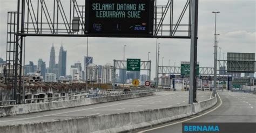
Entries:
{"label": "black LED board reading SELAMAT DATANG KE LEBUHRAYA SUKE", "polygon": [[85,33],[151,36],[153,10],[153,0],[86,0]]}

